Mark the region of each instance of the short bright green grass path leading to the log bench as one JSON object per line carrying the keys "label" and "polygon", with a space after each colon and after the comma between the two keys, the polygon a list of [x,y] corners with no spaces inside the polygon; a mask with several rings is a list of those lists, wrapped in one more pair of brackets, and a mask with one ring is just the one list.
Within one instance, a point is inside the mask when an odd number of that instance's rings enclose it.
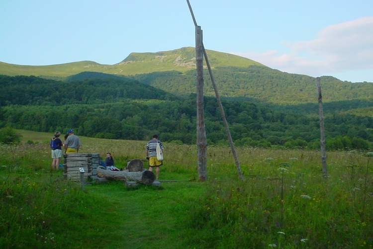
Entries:
{"label": "short bright green grass path leading to the log bench", "polygon": [[87,191],[97,198],[107,198],[109,206],[116,207],[107,212],[110,217],[102,217],[102,222],[113,220],[112,231],[107,231],[112,234],[108,237],[117,239],[99,248],[193,248],[185,239],[187,206],[200,196],[204,185],[166,182],[161,186],[132,190],[120,182],[87,186]]}

